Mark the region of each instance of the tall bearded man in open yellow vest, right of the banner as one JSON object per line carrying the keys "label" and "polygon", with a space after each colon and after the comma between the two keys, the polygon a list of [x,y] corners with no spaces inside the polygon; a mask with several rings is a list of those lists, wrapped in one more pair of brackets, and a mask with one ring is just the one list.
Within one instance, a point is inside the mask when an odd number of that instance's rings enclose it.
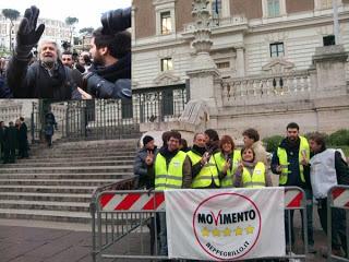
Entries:
{"label": "tall bearded man in open yellow vest, right of the banner", "polygon": [[[280,187],[300,187],[304,190],[306,196],[306,224],[308,224],[308,243],[310,253],[315,253],[314,249],[314,233],[313,233],[313,194],[311,187],[305,182],[305,177],[309,177],[309,168],[304,166],[309,163],[310,148],[305,138],[299,135],[299,126],[296,122],[290,122],[286,127],[287,138],[281,141],[272,158],[272,171],[279,175]],[[293,233],[293,211],[291,216],[291,236],[288,230],[288,212],[285,214],[285,230],[286,243],[294,243]],[[301,211],[303,221],[303,212]],[[303,225],[303,223],[302,223]],[[303,233],[303,230],[302,230]],[[291,241],[289,238],[291,237]]]}

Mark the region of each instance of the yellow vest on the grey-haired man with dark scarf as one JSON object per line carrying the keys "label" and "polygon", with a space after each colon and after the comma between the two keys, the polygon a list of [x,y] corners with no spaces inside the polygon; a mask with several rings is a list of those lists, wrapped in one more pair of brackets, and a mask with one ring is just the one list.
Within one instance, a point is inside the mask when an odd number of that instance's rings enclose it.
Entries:
{"label": "yellow vest on the grey-haired man with dark scarf", "polygon": [[[195,154],[192,151],[189,151],[186,153],[189,158],[192,162],[192,166],[194,166],[196,163],[198,163],[202,158],[202,156]],[[212,180],[214,180],[215,184],[217,187],[220,186],[219,178],[218,178],[218,170],[216,167],[216,163],[213,156],[209,157],[208,163],[206,163],[205,166],[200,170],[200,172],[196,175],[196,177],[192,181],[192,188],[206,188],[212,183]]]}

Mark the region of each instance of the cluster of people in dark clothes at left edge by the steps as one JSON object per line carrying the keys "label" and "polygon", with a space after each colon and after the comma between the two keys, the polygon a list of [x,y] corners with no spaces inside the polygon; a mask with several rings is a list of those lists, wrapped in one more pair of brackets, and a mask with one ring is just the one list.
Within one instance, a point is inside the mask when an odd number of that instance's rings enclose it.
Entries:
{"label": "cluster of people in dark clothes at left edge by the steps", "polygon": [[16,150],[19,150],[19,158],[28,157],[27,126],[23,117],[20,117],[15,122],[9,122],[9,126],[0,121],[0,163],[15,163]]}

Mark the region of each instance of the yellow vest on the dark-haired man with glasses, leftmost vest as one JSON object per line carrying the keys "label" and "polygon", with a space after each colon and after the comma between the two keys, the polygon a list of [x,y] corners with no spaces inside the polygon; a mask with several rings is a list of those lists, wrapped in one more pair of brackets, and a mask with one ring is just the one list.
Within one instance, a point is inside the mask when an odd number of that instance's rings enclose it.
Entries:
{"label": "yellow vest on the dark-haired man with glasses, leftmost vest", "polygon": [[179,151],[177,155],[166,165],[166,158],[158,153],[155,158],[155,189],[181,189],[183,179],[183,164],[186,154]]}

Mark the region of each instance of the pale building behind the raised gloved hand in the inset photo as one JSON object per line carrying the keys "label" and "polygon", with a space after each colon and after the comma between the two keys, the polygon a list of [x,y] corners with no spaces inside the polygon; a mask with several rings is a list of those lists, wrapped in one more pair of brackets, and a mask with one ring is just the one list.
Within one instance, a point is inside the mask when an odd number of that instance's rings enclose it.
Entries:
{"label": "pale building behind the raised gloved hand in the inset photo", "polygon": [[[22,19],[23,16],[20,16],[14,21],[14,27],[12,28],[12,32],[10,32],[10,20],[5,19],[0,10],[0,50],[10,49],[10,34],[12,38],[11,43],[15,46],[15,35]],[[41,39],[50,39],[59,44],[64,40],[70,41],[70,27],[64,22],[50,19],[38,19],[38,24],[45,24]]]}

